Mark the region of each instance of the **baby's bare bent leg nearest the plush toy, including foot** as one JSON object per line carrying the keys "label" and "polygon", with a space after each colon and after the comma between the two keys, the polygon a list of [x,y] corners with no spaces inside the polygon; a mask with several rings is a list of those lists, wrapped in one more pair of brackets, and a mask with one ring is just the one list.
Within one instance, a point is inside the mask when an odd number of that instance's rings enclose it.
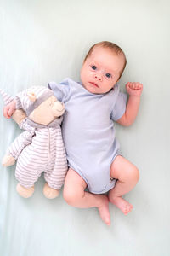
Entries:
{"label": "baby's bare bent leg nearest the plush toy, including foot", "polygon": [[65,177],[65,186],[63,196],[65,201],[79,208],[98,207],[99,215],[105,224],[111,224],[111,216],[109,212],[109,201],[106,195],[96,195],[85,192],[87,184],[85,181],[71,168]]}

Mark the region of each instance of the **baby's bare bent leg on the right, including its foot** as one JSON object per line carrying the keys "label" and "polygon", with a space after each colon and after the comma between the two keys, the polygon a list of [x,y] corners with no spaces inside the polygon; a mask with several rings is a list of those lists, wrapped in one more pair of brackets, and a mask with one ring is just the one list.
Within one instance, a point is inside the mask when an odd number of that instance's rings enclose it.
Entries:
{"label": "baby's bare bent leg on the right, including its foot", "polygon": [[127,194],[139,180],[139,170],[136,166],[123,158],[121,155],[111,165],[111,177],[117,179],[115,188],[109,192],[109,201],[120,208],[124,214],[130,212],[133,206],[122,199],[122,195]]}

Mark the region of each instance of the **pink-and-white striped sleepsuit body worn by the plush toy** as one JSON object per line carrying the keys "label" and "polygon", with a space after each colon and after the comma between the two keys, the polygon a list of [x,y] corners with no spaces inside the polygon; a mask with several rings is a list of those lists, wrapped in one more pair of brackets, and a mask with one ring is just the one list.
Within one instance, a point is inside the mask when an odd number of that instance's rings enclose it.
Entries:
{"label": "pink-and-white striped sleepsuit body worn by the plush toy", "polygon": [[15,177],[22,186],[33,186],[42,172],[49,187],[60,189],[63,185],[68,167],[59,125],[35,129],[33,137],[29,131],[21,133],[8,154],[18,158]]}

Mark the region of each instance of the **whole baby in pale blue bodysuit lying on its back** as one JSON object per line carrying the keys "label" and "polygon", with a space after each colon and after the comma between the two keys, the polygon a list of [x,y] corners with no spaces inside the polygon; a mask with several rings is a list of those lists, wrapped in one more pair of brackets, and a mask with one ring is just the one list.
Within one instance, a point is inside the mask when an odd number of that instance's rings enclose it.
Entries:
{"label": "whole baby in pale blue bodysuit lying on its back", "polygon": [[[62,132],[69,165],[65,201],[74,207],[98,207],[100,218],[108,225],[109,201],[124,214],[130,212],[133,206],[122,195],[139,180],[138,168],[122,157],[113,122],[132,125],[139,110],[143,85],[126,84],[127,102],[117,84],[126,62],[119,46],[100,42],[94,44],[83,62],[81,83],[65,79],[60,84],[48,84],[65,103]],[[15,108],[15,101],[9,103],[3,115],[10,118]]]}

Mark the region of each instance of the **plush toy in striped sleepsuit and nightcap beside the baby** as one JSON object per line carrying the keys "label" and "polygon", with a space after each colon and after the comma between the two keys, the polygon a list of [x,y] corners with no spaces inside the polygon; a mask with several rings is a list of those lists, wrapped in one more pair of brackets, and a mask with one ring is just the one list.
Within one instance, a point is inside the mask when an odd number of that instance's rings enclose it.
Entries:
{"label": "plush toy in striped sleepsuit and nightcap beside the baby", "polygon": [[[0,92],[6,105],[13,100],[3,90]],[[13,119],[25,131],[9,146],[3,166],[11,166],[17,160],[17,192],[25,198],[33,194],[34,183],[44,172],[43,194],[55,198],[68,169],[60,129],[64,104],[57,100],[52,90],[42,86],[20,92],[15,102]]]}

